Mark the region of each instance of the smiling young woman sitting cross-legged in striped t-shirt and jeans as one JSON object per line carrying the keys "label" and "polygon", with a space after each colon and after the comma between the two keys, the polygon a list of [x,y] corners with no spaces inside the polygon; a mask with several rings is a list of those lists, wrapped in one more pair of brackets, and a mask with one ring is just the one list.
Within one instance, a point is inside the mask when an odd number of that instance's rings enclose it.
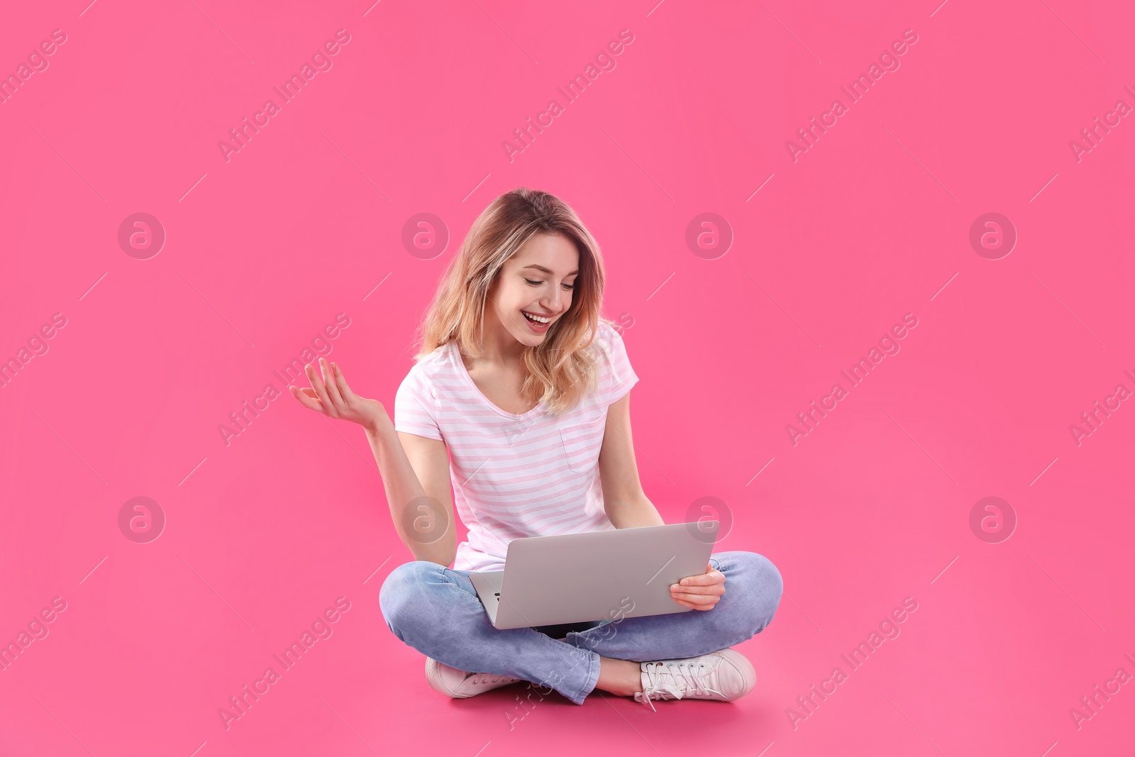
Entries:
{"label": "smiling young woman sitting cross-legged in striped t-shirt and jeans", "polygon": [[[382,583],[382,615],[447,696],[529,681],[578,705],[598,688],[654,707],[737,699],[756,681],[730,647],[780,604],[780,572],[762,555],[717,553],[704,574],[671,586],[693,612],[561,626],[497,630],[468,578],[503,570],[515,538],[663,524],[639,482],[638,376],[600,316],[603,286],[599,246],[575,212],[514,190],[480,215],[443,275],[393,423],[322,358],[318,373],[306,367],[313,388],[291,387],[306,407],[367,430],[414,556]],[[469,529],[460,546],[454,501]]]}

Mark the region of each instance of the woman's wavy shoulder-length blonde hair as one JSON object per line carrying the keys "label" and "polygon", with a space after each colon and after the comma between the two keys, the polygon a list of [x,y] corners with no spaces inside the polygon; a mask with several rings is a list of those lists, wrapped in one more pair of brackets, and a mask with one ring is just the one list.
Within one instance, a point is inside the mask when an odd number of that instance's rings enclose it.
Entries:
{"label": "woman's wavy shoulder-length blonde hair", "polygon": [[521,395],[557,414],[595,388],[598,358],[590,345],[599,323],[612,321],[600,312],[605,277],[599,245],[575,211],[547,192],[523,187],[506,192],[477,217],[426,310],[414,360],[454,339],[462,353],[481,355],[489,288],[505,262],[537,234],[561,234],[579,250],[571,306],[539,345],[523,352],[528,377]]}

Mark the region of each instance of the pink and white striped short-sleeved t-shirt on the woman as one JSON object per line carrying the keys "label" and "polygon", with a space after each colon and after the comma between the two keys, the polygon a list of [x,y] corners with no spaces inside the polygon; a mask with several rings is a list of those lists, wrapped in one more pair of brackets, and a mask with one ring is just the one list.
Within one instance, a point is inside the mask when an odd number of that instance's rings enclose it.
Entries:
{"label": "pink and white striped short-sleeved t-shirt on the woman", "polygon": [[595,390],[558,417],[543,404],[505,412],[473,384],[456,340],[418,361],[394,399],[394,428],[449,449],[454,506],[469,529],[455,570],[504,570],[512,539],[615,527],[603,508],[599,448],[607,406],[638,376],[622,337],[600,322],[588,347],[598,356]]}

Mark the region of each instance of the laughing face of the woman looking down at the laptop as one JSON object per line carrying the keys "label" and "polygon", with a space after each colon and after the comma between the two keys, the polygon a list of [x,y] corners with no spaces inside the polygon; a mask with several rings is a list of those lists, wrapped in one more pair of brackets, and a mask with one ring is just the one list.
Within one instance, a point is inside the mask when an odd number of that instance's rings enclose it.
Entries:
{"label": "laughing face of the woman looking down at the laptop", "polygon": [[579,251],[571,239],[537,234],[505,262],[493,283],[488,295],[491,314],[486,313],[486,318],[496,316],[518,342],[538,345],[552,323],[571,308],[578,272]]}

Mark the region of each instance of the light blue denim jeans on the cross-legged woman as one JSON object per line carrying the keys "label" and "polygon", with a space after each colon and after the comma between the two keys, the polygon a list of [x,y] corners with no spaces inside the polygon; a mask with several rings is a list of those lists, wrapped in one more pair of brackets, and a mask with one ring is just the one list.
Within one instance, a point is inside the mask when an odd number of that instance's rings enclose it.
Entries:
{"label": "light blue denim jeans on the cross-legged woman", "polygon": [[382,582],[379,606],[398,640],[439,663],[550,687],[577,705],[595,689],[599,657],[684,659],[738,645],[773,620],[784,583],[767,557],[722,552],[709,562],[725,574],[713,609],[621,617],[569,626],[499,630],[468,571],[428,561],[398,565]]}

